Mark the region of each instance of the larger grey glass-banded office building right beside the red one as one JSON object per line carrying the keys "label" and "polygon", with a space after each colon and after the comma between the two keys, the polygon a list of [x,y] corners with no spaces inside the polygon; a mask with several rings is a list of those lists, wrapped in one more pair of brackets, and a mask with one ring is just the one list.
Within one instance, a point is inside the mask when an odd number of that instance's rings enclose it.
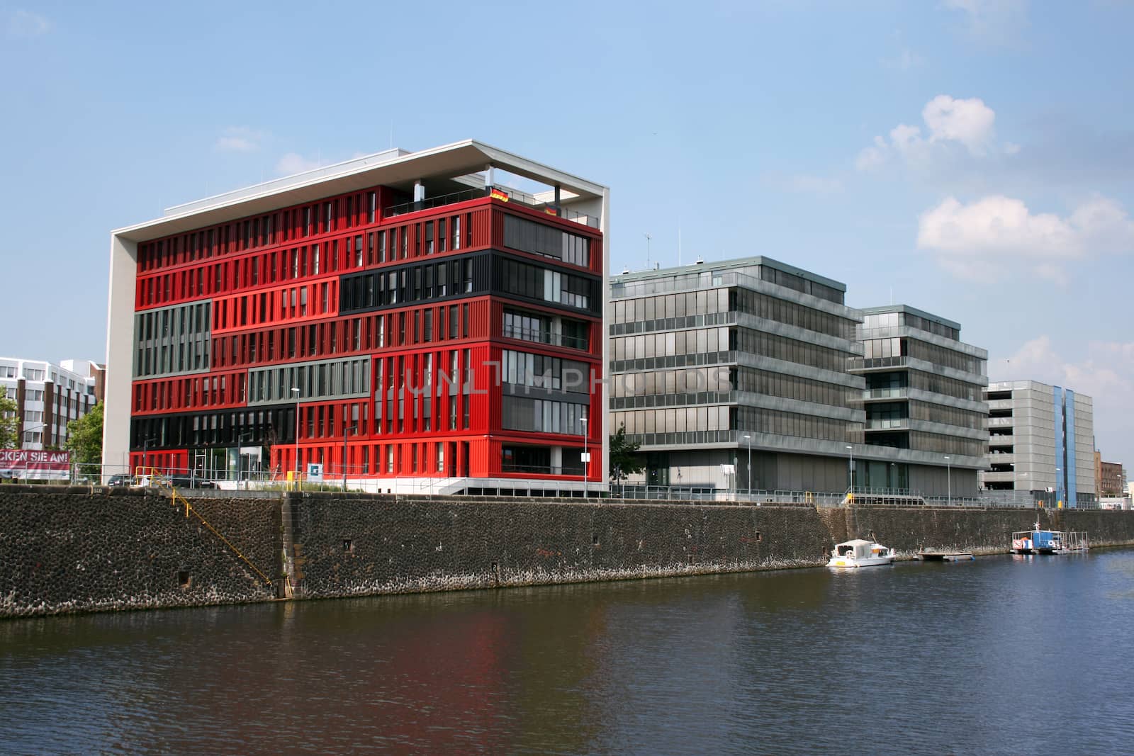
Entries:
{"label": "larger grey glass-banded office building right beside the red one", "polygon": [[769,257],[612,279],[610,427],[646,465],[629,482],[845,491],[871,451],[845,290]]}

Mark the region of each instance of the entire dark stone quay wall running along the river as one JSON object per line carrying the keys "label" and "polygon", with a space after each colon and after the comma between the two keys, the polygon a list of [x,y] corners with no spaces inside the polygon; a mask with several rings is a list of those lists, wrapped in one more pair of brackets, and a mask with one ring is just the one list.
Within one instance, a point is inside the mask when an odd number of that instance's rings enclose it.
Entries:
{"label": "entire dark stone quay wall running along the river", "polygon": [[1085,530],[1092,545],[1134,545],[1134,512],[1122,511],[335,493],[189,501],[211,528],[168,492],[0,486],[0,617],[815,567],[852,537],[904,558],[1004,553],[1036,518]]}

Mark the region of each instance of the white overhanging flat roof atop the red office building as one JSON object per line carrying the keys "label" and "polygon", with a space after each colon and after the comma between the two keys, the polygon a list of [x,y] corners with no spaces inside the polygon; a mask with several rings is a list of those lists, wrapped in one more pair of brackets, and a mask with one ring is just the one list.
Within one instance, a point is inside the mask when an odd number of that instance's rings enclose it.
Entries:
{"label": "white overhanging flat roof atop the red office building", "polygon": [[418,152],[376,152],[175,205],[161,218],[115,229],[111,235],[129,241],[149,241],[373,186],[409,187],[418,179],[457,179],[481,172],[489,165],[548,186],[558,185],[576,195],[573,201],[601,199],[607,192],[607,187],[601,184],[475,139],[465,139]]}

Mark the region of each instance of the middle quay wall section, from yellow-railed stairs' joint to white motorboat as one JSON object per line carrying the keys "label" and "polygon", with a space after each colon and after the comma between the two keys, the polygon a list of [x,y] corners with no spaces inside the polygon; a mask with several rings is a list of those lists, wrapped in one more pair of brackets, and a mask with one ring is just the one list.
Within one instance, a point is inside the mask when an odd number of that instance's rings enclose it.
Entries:
{"label": "middle quay wall section, from yellow-railed stairs' joint to white motorboat", "polygon": [[805,567],[830,542],[810,507],[306,494],[290,508],[308,597]]}

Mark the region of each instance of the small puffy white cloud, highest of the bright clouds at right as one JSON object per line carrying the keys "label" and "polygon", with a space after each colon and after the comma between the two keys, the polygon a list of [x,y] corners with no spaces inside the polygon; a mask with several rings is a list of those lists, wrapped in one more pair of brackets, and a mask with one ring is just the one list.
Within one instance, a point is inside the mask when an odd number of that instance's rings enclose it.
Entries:
{"label": "small puffy white cloud, highest of the bright clouds at right", "polygon": [[[855,159],[858,170],[878,168],[890,155],[899,155],[906,163],[928,165],[933,160],[949,156],[958,146],[975,158],[996,152],[996,111],[979,97],[957,100],[939,94],[922,108],[925,134],[919,126],[898,124],[890,129],[889,141],[875,136],[874,144],[863,148]],[[1001,148],[1014,154],[1019,146],[1008,144]]]}

